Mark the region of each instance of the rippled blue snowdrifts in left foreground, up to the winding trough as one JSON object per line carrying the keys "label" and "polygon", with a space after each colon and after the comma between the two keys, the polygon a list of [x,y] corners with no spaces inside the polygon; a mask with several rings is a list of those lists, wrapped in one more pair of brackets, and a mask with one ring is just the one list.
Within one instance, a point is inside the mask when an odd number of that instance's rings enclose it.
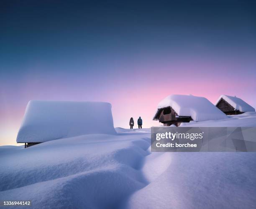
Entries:
{"label": "rippled blue snowdrifts in left foreground, up to the winding trough", "polygon": [[[0,200],[32,208],[115,208],[146,185],[147,134],[87,134],[0,152]],[[10,148],[10,147],[9,147]]]}

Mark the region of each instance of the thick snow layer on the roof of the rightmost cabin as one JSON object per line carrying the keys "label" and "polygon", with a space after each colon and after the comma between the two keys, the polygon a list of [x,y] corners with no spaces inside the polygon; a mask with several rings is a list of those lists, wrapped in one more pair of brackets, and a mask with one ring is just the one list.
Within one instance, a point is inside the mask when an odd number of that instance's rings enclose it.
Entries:
{"label": "thick snow layer on the roof of the rightmost cabin", "polygon": [[240,112],[255,112],[255,109],[251,107],[251,105],[247,104],[245,101],[241,100],[238,97],[231,97],[228,95],[220,95],[219,99],[215,103],[215,105],[218,104],[218,102],[223,98],[226,102],[228,102],[232,107],[239,110]]}

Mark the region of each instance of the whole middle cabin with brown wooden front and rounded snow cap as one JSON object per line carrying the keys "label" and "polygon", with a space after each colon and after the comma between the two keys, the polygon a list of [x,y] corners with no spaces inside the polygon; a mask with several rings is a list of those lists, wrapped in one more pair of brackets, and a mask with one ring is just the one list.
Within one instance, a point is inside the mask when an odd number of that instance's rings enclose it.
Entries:
{"label": "whole middle cabin with brown wooden front and rounded snow cap", "polygon": [[169,95],[158,104],[153,120],[159,120],[164,126],[179,126],[191,120],[199,122],[225,118],[227,116],[205,97]]}

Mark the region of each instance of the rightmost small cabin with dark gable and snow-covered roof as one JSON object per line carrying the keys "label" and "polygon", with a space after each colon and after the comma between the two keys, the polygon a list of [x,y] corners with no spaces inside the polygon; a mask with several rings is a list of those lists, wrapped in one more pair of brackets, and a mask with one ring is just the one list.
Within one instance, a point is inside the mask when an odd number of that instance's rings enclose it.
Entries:
{"label": "rightmost small cabin with dark gable and snow-covered roof", "polygon": [[244,112],[255,112],[255,109],[251,105],[238,97],[231,97],[228,95],[221,95],[215,103],[225,114],[242,114]]}

